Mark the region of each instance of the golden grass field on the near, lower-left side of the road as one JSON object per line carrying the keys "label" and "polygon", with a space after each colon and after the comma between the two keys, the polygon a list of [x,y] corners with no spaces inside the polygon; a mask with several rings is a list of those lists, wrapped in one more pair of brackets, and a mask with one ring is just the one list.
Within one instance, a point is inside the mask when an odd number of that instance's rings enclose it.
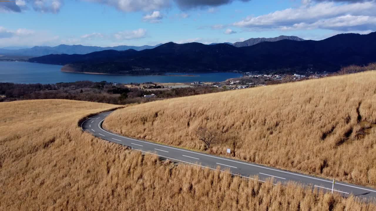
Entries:
{"label": "golden grass field on the near, lower-left side of the road", "polygon": [[375,210],[354,197],[231,177],[141,155],[83,133],[77,121],[114,105],[2,102],[0,210]]}

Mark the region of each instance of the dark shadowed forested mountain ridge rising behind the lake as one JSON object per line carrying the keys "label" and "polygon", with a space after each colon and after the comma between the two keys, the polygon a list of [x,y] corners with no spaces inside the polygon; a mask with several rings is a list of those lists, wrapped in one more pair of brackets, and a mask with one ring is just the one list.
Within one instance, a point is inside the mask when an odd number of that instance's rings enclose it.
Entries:
{"label": "dark shadowed forested mountain ridge rising behind the lake", "polygon": [[376,61],[376,32],[340,34],[321,41],[283,39],[237,48],[168,42],[142,51],[99,51],[85,55],[47,55],[30,62],[61,64],[67,71],[111,74],[215,71],[337,71],[341,66]]}

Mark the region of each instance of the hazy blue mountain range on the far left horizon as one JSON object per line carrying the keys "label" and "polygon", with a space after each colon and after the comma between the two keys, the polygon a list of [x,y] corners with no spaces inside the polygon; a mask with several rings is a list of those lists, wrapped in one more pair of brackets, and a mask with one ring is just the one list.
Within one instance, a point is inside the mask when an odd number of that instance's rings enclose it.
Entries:
{"label": "hazy blue mountain range on the far left horizon", "polygon": [[7,54],[7,55],[18,55],[18,56],[44,56],[49,54],[88,54],[95,51],[103,51],[103,50],[117,50],[117,51],[124,51],[128,49],[133,49],[136,51],[141,51],[145,49],[155,48],[159,45],[143,45],[143,46],[127,46],[127,45],[120,45],[115,47],[98,47],[98,46],[84,46],[84,45],[58,45],[55,47],[47,47],[47,46],[35,46],[32,48],[24,48],[18,50],[12,49],[0,49],[0,54]]}

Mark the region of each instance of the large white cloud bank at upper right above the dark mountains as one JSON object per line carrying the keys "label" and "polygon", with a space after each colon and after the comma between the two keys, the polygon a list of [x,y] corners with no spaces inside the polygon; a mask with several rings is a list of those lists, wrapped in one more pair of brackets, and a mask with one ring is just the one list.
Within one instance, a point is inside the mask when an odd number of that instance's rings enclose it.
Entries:
{"label": "large white cloud bank at upper right above the dark mountains", "polygon": [[247,17],[233,26],[250,29],[375,29],[376,3],[361,2],[337,5],[334,2],[288,8],[258,17]]}

